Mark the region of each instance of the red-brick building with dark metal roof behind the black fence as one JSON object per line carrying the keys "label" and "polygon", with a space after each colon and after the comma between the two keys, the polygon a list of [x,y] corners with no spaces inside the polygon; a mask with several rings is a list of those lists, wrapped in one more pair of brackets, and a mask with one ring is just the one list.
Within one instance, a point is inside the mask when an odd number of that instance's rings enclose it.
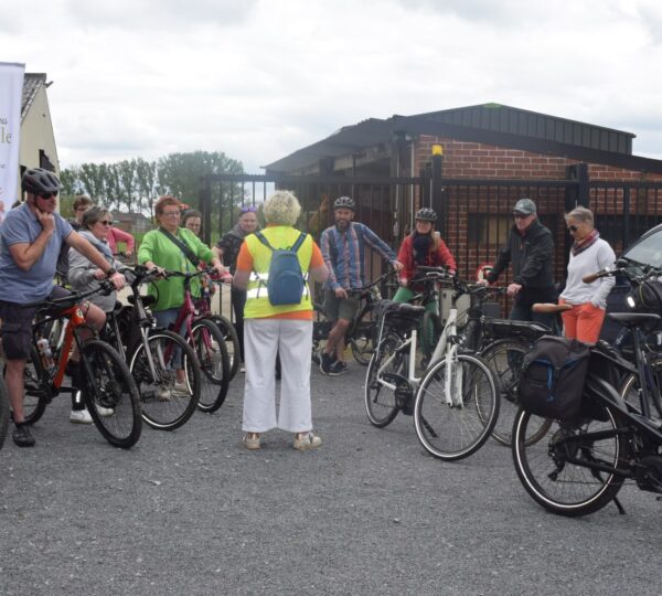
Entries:
{"label": "red-brick building with dark metal roof behind the black fence", "polygon": [[[333,180],[350,189],[360,219],[394,245],[420,204],[441,215],[442,233],[466,275],[492,262],[517,198],[531,196],[554,232],[557,277],[568,237],[563,214],[586,204],[617,253],[662,222],[662,160],[632,153],[634,135],[544,114],[484,104],[415,116],[371,118],[266,166],[267,178]],[[433,157],[440,146],[442,157]],[[374,185],[391,192],[374,200]],[[346,184],[342,181],[346,180]],[[431,182],[431,183],[430,183]],[[316,207],[330,221],[329,195]],[[367,205],[367,206],[366,206]]]}

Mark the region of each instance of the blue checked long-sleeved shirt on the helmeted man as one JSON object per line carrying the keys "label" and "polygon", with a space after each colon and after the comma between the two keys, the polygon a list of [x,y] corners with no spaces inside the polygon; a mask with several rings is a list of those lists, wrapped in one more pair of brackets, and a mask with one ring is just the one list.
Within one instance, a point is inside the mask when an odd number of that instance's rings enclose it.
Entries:
{"label": "blue checked long-sleeved shirt on the helmeted man", "polygon": [[324,263],[329,267],[329,279],[324,283],[325,288],[350,290],[365,286],[366,244],[380,253],[391,265],[395,263],[395,253],[362,223],[351,222],[345,232],[339,232],[334,225],[322,232],[320,248]]}

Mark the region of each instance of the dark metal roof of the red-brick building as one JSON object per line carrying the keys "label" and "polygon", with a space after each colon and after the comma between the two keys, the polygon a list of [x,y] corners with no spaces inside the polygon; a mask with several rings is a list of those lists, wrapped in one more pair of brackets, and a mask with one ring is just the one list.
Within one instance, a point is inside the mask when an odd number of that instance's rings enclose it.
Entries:
{"label": "dark metal roof of the red-brick building", "polygon": [[662,161],[632,156],[636,135],[524,109],[484,104],[415,116],[370,118],[265,166],[269,172],[297,172],[323,158],[337,158],[385,143],[394,136],[437,135],[589,163],[662,173]]}

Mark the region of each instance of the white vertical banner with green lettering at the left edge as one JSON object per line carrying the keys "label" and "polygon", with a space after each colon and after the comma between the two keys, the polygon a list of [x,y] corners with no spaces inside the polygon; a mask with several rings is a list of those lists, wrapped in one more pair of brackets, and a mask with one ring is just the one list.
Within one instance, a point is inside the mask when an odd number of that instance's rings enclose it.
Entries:
{"label": "white vertical banner with green lettering at the left edge", "polygon": [[0,201],[19,199],[19,139],[24,64],[0,62]]}

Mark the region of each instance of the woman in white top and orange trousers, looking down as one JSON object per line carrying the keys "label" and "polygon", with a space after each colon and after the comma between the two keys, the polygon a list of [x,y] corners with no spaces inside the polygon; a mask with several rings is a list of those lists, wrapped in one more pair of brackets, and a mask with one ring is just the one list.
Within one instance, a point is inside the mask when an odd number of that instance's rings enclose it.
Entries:
{"label": "woman in white top and orange trousers, looking down", "polygon": [[558,300],[573,307],[563,313],[564,333],[569,339],[596,343],[605,320],[607,296],[616,279],[609,276],[585,284],[581,278],[605,267],[613,267],[616,255],[594,227],[590,210],[575,207],[565,215],[565,221],[575,243],[570,249],[566,287]]}

